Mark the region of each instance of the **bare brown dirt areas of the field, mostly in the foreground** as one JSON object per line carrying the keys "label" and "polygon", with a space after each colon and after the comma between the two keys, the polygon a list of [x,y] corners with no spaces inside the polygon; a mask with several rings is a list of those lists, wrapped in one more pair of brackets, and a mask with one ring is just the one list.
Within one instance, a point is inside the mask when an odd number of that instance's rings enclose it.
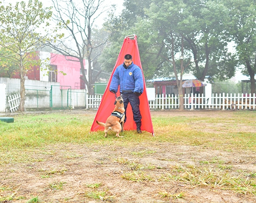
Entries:
{"label": "bare brown dirt areas of the field, mostly in the foreground", "polygon": [[[95,111],[87,113],[96,114]],[[152,116],[159,114],[230,116],[229,112],[222,111],[152,111]],[[256,129],[244,129],[256,134]],[[139,153],[145,154],[138,156]],[[256,155],[249,151],[227,152],[160,142],[126,148],[54,145],[36,149],[34,157],[22,163],[9,163],[5,168],[0,166],[0,197],[10,196],[10,200],[2,202],[27,202],[37,196],[39,202],[256,202],[256,196],[252,194],[161,178],[167,174],[172,176],[172,169],[177,164],[193,165],[214,157],[229,162],[233,171],[256,172]],[[137,168],[141,165],[145,168],[139,174]],[[143,171],[150,177],[143,177]],[[136,174],[134,180],[124,178]],[[90,195],[101,196],[101,199]]]}

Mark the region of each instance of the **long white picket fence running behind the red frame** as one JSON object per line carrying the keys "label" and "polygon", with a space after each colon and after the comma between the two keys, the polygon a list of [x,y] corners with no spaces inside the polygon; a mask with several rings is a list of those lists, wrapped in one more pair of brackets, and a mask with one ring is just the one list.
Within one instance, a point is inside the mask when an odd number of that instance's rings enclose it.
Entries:
{"label": "long white picket fence running behind the red frame", "polygon": [[[191,97],[191,98],[189,98]],[[89,95],[87,99],[87,109],[98,109],[102,95]],[[232,109],[232,110],[255,110],[256,97],[255,94],[212,94],[206,97],[204,94],[190,95],[185,94],[184,109]],[[191,104],[189,103],[189,101]],[[179,109],[179,95],[161,94],[156,95],[155,100],[149,100],[150,109],[165,110]]]}

